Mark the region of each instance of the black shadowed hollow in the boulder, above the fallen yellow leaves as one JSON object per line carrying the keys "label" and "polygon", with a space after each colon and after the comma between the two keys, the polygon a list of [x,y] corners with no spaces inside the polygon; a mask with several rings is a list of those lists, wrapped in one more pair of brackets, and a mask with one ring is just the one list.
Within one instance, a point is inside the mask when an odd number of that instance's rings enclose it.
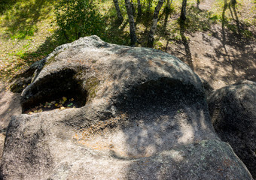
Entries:
{"label": "black shadowed hollow in the boulder, above the fallen yellow leaves", "polygon": [[33,109],[33,107],[45,102],[58,101],[62,97],[75,98],[76,107],[83,107],[87,101],[87,92],[76,80],[75,71],[63,69],[45,76],[40,82],[33,84],[26,96],[22,96],[22,111]]}

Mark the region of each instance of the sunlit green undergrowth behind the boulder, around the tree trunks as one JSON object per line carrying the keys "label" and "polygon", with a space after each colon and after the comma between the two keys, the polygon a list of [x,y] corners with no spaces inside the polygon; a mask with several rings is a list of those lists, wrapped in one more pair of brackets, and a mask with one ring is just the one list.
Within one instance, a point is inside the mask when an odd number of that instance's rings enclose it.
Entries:
{"label": "sunlit green undergrowth behind the boulder, around the tree trunks", "polygon": [[[141,2],[142,16],[135,14],[136,33],[138,46],[146,46],[157,0],[153,1],[149,10],[148,1]],[[165,50],[168,44],[171,46],[177,40],[189,40],[186,34],[211,31],[215,23],[241,37],[254,38],[255,34],[250,27],[256,26],[256,1],[237,0],[237,4],[232,6],[230,0],[227,0],[227,5],[224,0],[215,0],[209,10],[201,10],[197,6],[199,2],[187,1],[187,20],[182,24],[178,18],[181,0],[172,1],[170,9],[166,4],[163,5],[154,48]],[[136,7],[137,1],[133,3]],[[124,18],[122,23],[116,21],[112,0],[2,0],[0,80],[10,80],[33,62],[44,58],[56,46],[85,35],[96,34],[108,43],[129,45],[129,23],[123,1],[120,1],[120,10]]]}

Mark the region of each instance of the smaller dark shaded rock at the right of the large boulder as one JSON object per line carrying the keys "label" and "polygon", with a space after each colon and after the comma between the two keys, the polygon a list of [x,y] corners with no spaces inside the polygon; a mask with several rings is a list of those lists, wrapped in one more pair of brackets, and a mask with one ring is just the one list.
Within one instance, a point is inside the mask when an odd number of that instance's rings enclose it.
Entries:
{"label": "smaller dark shaded rock at the right of the large boulder", "polygon": [[228,142],[256,179],[256,83],[245,80],[209,98],[216,133]]}

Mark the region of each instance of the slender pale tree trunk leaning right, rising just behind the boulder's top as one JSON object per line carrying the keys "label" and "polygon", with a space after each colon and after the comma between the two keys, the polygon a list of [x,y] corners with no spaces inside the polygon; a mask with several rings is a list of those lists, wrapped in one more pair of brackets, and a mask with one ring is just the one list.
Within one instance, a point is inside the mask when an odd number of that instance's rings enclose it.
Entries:
{"label": "slender pale tree trunk leaning right, rising just behind the boulder's top", "polygon": [[159,14],[159,11],[160,11],[162,6],[163,6],[163,0],[159,0],[158,3],[157,3],[157,7],[154,9],[153,23],[152,23],[152,26],[151,26],[151,31],[149,31],[149,34],[148,34],[148,47],[153,46],[154,33],[157,30],[158,14]]}

